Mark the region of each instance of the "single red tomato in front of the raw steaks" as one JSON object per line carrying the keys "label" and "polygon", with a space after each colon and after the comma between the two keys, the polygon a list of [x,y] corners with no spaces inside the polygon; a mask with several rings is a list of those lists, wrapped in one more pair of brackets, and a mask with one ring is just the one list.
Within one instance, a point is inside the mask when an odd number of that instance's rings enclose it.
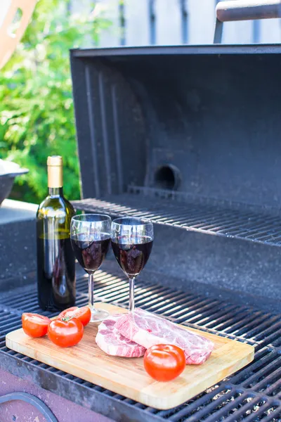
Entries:
{"label": "single red tomato in front of the raw steaks", "polygon": [[174,345],[155,345],[145,352],[145,371],[156,381],[171,381],[185,369],[185,354]]}

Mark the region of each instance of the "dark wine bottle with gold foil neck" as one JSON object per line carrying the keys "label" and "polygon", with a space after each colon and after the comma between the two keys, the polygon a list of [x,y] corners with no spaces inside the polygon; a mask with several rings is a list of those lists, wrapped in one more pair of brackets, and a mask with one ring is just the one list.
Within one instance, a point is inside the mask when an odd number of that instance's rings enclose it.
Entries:
{"label": "dark wine bottle with gold foil neck", "polygon": [[37,211],[37,282],[41,309],[75,304],[75,258],[70,243],[74,209],[63,196],[63,159],[48,157],[48,196]]}

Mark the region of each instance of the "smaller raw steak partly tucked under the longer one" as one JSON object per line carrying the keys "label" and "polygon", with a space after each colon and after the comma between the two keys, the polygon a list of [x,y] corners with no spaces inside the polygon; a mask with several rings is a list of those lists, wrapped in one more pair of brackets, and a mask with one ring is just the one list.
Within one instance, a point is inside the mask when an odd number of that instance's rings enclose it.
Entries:
{"label": "smaller raw steak partly tucked under the longer one", "polygon": [[125,338],[117,329],[115,324],[122,314],[108,316],[98,326],[96,343],[103,352],[112,356],[141,357],[145,354],[145,347]]}

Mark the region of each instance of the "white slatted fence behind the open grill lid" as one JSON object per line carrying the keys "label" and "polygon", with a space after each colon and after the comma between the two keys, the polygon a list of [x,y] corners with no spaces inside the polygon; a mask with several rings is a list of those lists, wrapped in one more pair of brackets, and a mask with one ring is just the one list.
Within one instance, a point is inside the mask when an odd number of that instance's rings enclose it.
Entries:
{"label": "white slatted fence behind the open grill lid", "polygon": [[[216,0],[98,0],[105,17],[112,21],[111,29],[101,34],[100,46],[211,44],[216,3]],[[89,4],[91,0],[72,0],[75,11]],[[280,43],[280,19],[224,24],[223,44],[253,42]]]}

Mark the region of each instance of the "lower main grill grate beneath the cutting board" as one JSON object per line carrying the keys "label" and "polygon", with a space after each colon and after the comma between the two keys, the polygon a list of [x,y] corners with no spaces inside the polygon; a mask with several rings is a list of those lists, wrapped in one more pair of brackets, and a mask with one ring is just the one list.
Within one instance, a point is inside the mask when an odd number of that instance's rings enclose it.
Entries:
{"label": "lower main grill grate beneath the cutting board", "polygon": [[[146,274],[149,278],[148,271]],[[80,276],[77,280],[78,305],[86,305],[86,292],[86,276]],[[127,282],[117,273],[97,271],[96,297],[98,300],[127,306]],[[107,400],[107,409],[112,401],[115,409],[122,407],[120,415],[115,412],[112,417],[122,422],[131,421],[132,415],[136,421],[238,422],[245,419],[254,422],[281,421],[281,316],[143,281],[136,282],[136,305],[181,324],[195,324],[203,330],[247,341],[256,346],[255,359],[234,376],[209,388],[180,407],[166,411],[145,407],[143,404],[7,349],[5,335],[11,330],[20,328],[22,312],[40,312],[34,286],[26,287],[18,294],[13,292],[0,298],[0,353],[2,357],[18,359],[34,369],[40,369],[47,373],[48,377],[53,374],[71,382],[75,388],[83,389],[81,397],[84,397],[86,392],[100,395]],[[49,312],[41,313],[53,316]],[[67,393],[65,398],[72,399]],[[98,406],[96,403],[98,400],[94,401],[92,408],[103,411],[95,407]]]}

